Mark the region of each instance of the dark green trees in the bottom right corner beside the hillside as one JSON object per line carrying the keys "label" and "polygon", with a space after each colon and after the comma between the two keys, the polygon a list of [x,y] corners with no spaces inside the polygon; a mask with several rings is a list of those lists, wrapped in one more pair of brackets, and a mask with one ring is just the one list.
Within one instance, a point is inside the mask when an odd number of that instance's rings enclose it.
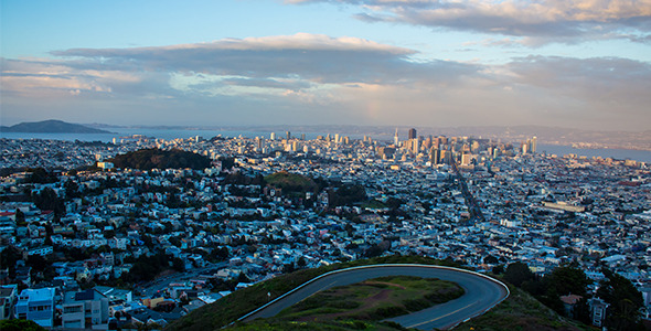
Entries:
{"label": "dark green trees in the bottom right corner beside the hillside", "polygon": [[[504,280],[527,291],[561,314],[566,316],[561,296],[572,293],[583,297],[574,307],[572,316],[568,317],[591,324],[587,288],[593,281],[583,269],[564,265],[555,268],[545,277],[534,275],[524,263],[513,263],[505,270],[501,269],[498,268],[493,273],[503,271]],[[600,281],[596,297],[610,305],[606,314],[606,327],[609,330],[644,330],[640,320],[640,309],[644,306],[642,293],[623,276],[608,268],[601,269],[601,273],[606,277]]]}

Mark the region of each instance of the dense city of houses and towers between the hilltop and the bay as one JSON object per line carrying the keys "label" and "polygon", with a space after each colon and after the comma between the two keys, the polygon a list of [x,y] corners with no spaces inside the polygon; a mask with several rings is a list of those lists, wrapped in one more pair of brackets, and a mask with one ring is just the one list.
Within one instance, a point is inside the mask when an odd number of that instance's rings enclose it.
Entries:
{"label": "dense city of houses and towers between the hilltop and the bay", "polygon": [[[382,255],[494,274],[520,263],[536,277],[581,269],[588,291],[557,295],[568,316],[586,297],[596,327],[615,273],[641,292],[641,318],[651,312],[643,162],[547,154],[535,137],[415,130],[403,141],[286,132],[0,146],[0,319],[156,329],[284,273]],[[124,166],[119,156],[142,150],[192,152],[207,167]]]}

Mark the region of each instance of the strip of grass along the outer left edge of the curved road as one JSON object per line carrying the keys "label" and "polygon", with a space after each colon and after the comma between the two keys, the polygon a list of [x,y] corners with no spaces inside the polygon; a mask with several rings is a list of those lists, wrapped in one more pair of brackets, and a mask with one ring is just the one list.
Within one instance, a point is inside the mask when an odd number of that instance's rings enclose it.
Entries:
{"label": "strip of grass along the outer left edge of the curved road", "polygon": [[[205,331],[220,329],[319,275],[338,269],[377,264],[421,264],[458,267],[451,261],[423,256],[383,256],[299,270],[237,290],[170,323],[166,330]],[[270,293],[271,297],[268,298],[267,293]]]}

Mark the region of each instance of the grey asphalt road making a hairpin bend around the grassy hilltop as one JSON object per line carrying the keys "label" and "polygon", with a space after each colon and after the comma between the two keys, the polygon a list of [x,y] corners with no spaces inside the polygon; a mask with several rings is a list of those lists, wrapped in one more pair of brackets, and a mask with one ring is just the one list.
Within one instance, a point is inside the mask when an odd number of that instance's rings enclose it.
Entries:
{"label": "grey asphalt road making a hairpin bend around the grassy hilltop", "polygon": [[509,296],[509,290],[503,284],[477,273],[427,265],[374,265],[335,270],[317,277],[239,320],[250,321],[274,317],[282,309],[331,287],[398,275],[450,280],[466,290],[463,296],[455,300],[389,319],[405,328],[420,330],[452,328],[467,319],[484,313]]}

